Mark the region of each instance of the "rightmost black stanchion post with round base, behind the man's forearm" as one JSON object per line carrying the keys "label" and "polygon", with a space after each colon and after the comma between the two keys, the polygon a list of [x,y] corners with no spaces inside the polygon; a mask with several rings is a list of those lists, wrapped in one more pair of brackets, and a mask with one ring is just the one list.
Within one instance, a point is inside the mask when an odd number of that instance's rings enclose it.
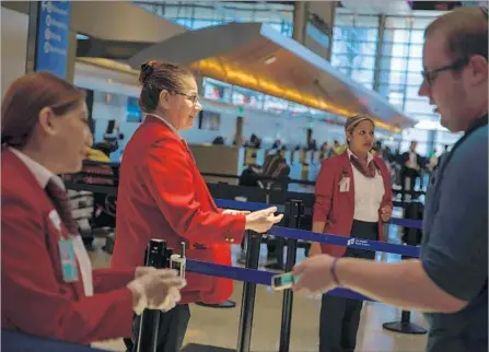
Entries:
{"label": "rightmost black stanchion post with round base, behind the man's forearm", "polygon": [[[406,219],[420,220],[420,207],[419,202],[411,202],[407,206],[405,211]],[[418,236],[418,228],[404,228],[403,242],[408,246],[419,245],[420,238]],[[410,259],[411,257],[401,256],[403,260]],[[409,335],[423,335],[427,330],[416,324],[411,322],[411,312],[403,310],[400,313],[400,321],[384,322],[382,327],[389,331],[409,333]]]}

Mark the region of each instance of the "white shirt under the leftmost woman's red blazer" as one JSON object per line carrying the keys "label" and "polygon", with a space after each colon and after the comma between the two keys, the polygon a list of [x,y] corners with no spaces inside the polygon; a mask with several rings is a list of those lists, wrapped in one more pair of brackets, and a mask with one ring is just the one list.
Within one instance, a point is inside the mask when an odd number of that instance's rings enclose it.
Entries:
{"label": "white shirt under the leftmost woman's red blazer", "polygon": [[[53,179],[59,188],[66,190],[65,184],[61,178],[46,167],[32,160],[21,151],[10,148],[10,151],[14,153],[30,169],[30,172],[34,175],[39,186],[45,189],[50,179]],[[61,239],[61,238],[60,238]],[[80,271],[83,281],[83,291],[85,296],[93,295],[93,277],[92,277],[92,262],[90,261],[89,254],[86,253],[85,246],[83,245],[83,240],[81,236],[73,237],[73,249],[74,255],[77,257],[78,263],[80,266]]]}

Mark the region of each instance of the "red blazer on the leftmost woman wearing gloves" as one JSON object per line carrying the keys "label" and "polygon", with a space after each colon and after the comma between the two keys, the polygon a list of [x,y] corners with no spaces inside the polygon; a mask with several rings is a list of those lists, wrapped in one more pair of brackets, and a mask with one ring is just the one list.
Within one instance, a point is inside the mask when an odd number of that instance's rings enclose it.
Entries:
{"label": "red blazer on the leftmost woman wearing gloves", "polygon": [[91,297],[81,281],[63,282],[50,199],[15,154],[3,149],[1,159],[2,329],[78,343],[129,337],[132,294],[125,286],[135,270],[94,270]]}

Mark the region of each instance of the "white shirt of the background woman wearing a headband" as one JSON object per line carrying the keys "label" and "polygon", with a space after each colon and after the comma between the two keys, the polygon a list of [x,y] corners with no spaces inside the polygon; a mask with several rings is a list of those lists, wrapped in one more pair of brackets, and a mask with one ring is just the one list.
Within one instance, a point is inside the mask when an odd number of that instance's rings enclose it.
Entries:
{"label": "white shirt of the background woman wearing a headband", "polygon": [[[348,157],[354,154],[348,149]],[[366,162],[373,162],[371,153],[366,156]],[[379,208],[384,197],[384,180],[381,172],[377,171],[372,178],[363,176],[357,167],[352,165],[354,184],[354,213],[353,219],[365,222],[379,221]]]}

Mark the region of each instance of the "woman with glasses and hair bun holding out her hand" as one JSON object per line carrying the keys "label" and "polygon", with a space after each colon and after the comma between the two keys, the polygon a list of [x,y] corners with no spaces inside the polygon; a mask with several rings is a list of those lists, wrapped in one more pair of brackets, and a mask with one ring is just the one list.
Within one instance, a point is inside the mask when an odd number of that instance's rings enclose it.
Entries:
{"label": "woman with glasses and hair bun holding out her hand", "polygon": [[[251,214],[216,206],[179,131],[193,127],[201,110],[197,83],[181,67],[149,61],[141,66],[139,105],[144,121],[126,145],[117,195],[115,268],[142,263],[151,237],[168,247],[187,244],[193,259],[231,265],[230,245],[244,231],[266,232],[280,222],[276,208]],[[216,155],[219,157],[219,155]],[[231,280],[187,273],[182,304],[160,317],[158,351],[179,351],[189,320],[189,303],[217,304],[233,291]],[[139,319],[135,319],[133,341]],[[130,348],[130,341],[126,341]]]}

